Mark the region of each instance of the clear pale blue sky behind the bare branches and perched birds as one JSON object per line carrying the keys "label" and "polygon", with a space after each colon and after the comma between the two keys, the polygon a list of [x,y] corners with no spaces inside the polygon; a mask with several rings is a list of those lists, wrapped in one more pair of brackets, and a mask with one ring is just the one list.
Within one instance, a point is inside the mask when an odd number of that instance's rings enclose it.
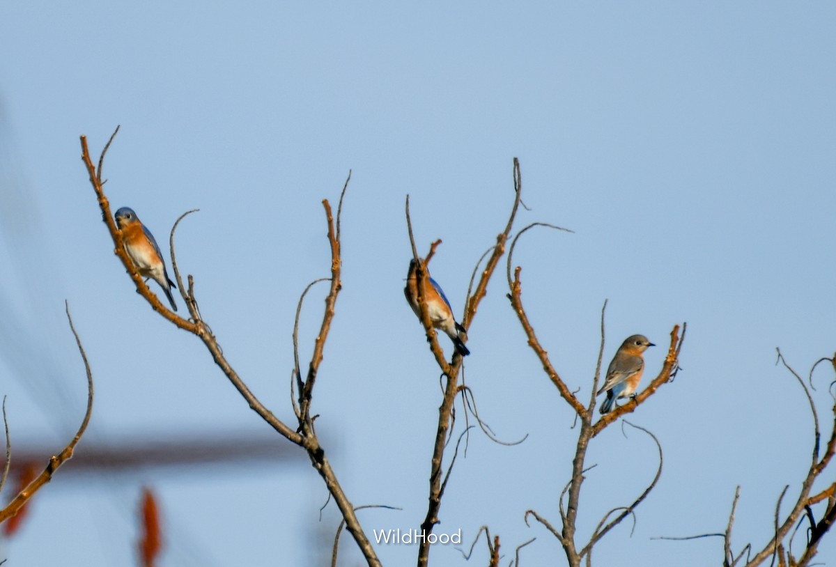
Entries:
{"label": "clear pale blue sky behind the bare branches and perched birds", "polygon": [[[79,135],[98,154],[121,125],[105,189],[163,248],[176,218],[201,209],[178,229],[178,263],[229,360],[287,421],[296,302],[329,273],[321,200],[335,204],[351,170],[344,291],[314,408],[352,502],[404,508],[364,511],[364,527],[420,524],[440,392],[402,294],[405,196],[419,249],[443,240],[432,273],[461,313],[474,264],[505,225],[517,156],[531,209],[517,229],[575,231],[529,232],[514,257],[528,314],[571,388],[589,392],[604,299],[604,364],[642,333],[660,345],[646,355],[655,375],[670,329],[688,323],[685,370],[630,416],[660,438],[662,478],[632,537],[614,530],[596,563],[719,563],[720,539],[650,538],[721,531],[738,484],[736,547],[762,546],[812,443],[803,392],[775,347],[803,375],[834,350],[834,24],[828,3],[4,5],[0,290],[14,323],[0,336],[0,393],[13,438],[59,443],[83,413],[64,299],[97,388],[89,442],[266,429],[201,345],[133,291]],[[303,355],[324,289],[308,299]],[[498,273],[469,334],[466,381],[498,437],[529,437],[502,447],[472,435],[441,528],[461,527],[469,542],[487,524],[507,559],[537,536],[523,564],[553,564],[558,543],[523,513],[557,521],[573,416],[506,292]],[[831,376],[819,372],[824,386]],[[826,416],[832,400],[823,387],[815,396]],[[589,462],[582,534],[640,493],[655,447],[611,427]],[[130,564],[143,484],[165,513],[163,564],[303,564],[310,538],[335,529],[333,510],[318,524],[326,492],[300,452],[289,467],[59,474],[0,557]],[[485,564],[478,547],[472,561]],[[385,564],[415,558],[410,546],[378,551]],[[820,557],[832,561],[836,546]]]}

